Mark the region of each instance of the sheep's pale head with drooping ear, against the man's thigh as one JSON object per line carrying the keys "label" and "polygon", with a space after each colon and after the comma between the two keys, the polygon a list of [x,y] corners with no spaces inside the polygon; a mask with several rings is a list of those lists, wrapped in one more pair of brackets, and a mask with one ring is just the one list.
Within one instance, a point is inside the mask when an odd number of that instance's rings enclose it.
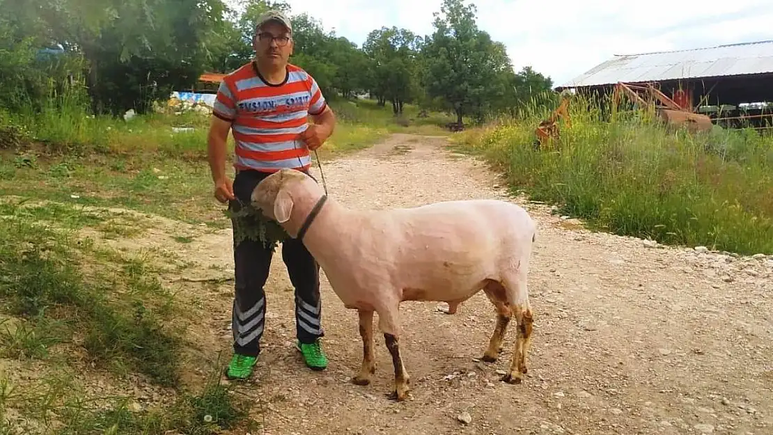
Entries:
{"label": "sheep's pale head with drooping ear, against the man's thigh", "polygon": [[250,195],[253,206],[269,219],[287,223],[295,203],[316,192],[314,180],[295,169],[281,169],[264,178]]}

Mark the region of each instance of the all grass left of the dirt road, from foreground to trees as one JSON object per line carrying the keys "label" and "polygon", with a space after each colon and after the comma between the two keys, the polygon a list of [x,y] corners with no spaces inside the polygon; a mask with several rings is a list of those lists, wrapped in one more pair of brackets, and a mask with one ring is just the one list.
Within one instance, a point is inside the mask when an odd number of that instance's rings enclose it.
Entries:
{"label": "all grass left of the dirt road, from foreground to trees", "polygon": [[[255,433],[251,403],[220,384],[223,362],[203,385],[191,375],[206,359],[189,358],[186,328],[199,319],[182,303],[196,297],[158,280],[189,264],[103,241],[127,243],[154,225],[145,213],[229,225],[212,198],[209,117],[172,108],[124,121],[79,104],[65,95],[43,113],[0,110],[0,434]],[[410,105],[402,117],[371,101],[331,106],[339,122],[322,159],[393,132],[447,134],[444,115],[418,117]],[[194,234],[166,237],[175,249]],[[133,388],[163,399],[140,406]]]}

